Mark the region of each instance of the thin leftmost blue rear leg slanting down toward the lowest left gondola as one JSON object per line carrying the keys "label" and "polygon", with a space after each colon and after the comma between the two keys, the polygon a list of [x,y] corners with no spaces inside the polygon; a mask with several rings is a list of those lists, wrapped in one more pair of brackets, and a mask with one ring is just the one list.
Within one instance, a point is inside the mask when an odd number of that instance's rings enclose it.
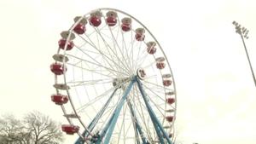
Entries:
{"label": "thin leftmost blue rear leg slanting down toward the lowest left gondola", "polygon": [[[110,101],[113,98],[113,95],[115,94],[115,92],[117,91],[118,88],[113,90],[112,95],[108,98],[108,101],[105,103],[105,105],[102,107],[101,111],[97,113],[96,117],[93,118],[93,120],[90,122],[89,126],[88,126],[88,130],[92,131],[94,129],[94,127],[96,126],[96,123],[98,122],[98,120],[102,117],[102,114],[105,112],[106,108],[108,107],[108,104],[110,103]],[[89,132],[87,130],[84,130],[83,134],[84,137],[87,137],[89,135]],[[84,144],[84,140],[79,137],[79,139],[75,142],[75,144]]]}

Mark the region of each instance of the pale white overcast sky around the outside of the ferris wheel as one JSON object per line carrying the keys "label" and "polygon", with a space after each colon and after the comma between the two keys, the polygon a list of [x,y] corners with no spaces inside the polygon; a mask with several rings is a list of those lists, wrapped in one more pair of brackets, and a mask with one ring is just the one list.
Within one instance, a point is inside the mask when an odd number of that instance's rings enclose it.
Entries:
{"label": "pale white overcast sky around the outside of the ferris wheel", "polygon": [[[154,34],[177,84],[177,139],[183,144],[254,144],[256,88],[233,20],[249,29],[256,71],[253,0],[1,0],[0,114],[38,110],[67,123],[50,101],[49,71],[60,32],[92,9],[121,9]],[[75,136],[67,136],[65,144]]]}

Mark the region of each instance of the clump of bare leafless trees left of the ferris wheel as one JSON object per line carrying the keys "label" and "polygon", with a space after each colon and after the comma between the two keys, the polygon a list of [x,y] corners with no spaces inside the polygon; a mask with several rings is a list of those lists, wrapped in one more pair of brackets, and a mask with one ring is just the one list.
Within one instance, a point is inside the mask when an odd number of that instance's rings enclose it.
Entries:
{"label": "clump of bare leafless trees left of the ferris wheel", "polygon": [[0,118],[0,144],[58,144],[63,141],[60,124],[41,112],[29,112],[19,120]]}

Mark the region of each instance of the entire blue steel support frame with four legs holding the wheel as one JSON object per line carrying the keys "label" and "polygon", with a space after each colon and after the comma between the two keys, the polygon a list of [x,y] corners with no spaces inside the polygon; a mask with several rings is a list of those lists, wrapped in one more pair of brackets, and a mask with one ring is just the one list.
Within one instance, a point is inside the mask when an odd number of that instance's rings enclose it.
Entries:
{"label": "entire blue steel support frame with four legs holding the wheel", "polygon": [[[140,135],[143,144],[148,144],[149,142],[146,140],[145,136],[143,135],[143,130],[140,126],[140,124],[138,124],[137,121],[137,117],[136,117],[136,113],[131,105],[131,102],[127,100],[127,96],[129,95],[131,88],[133,86],[134,83],[137,83],[137,86],[141,92],[141,94],[143,95],[143,101],[145,102],[145,105],[147,107],[149,116],[151,118],[152,123],[154,124],[154,130],[156,131],[160,144],[173,144],[172,141],[169,139],[169,136],[166,134],[166,131],[164,130],[164,128],[162,127],[162,125],[160,124],[160,121],[158,120],[158,118],[156,117],[152,107],[150,107],[150,104],[148,103],[148,99],[147,99],[147,95],[143,89],[143,84],[141,83],[141,81],[139,80],[139,78],[137,78],[137,76],[134,76],[133,78],[131,78],[131,82],[128,85],[128,87],[125,89],[125,92],[122,96],[122,98],[120,99],[117,107],[115,107],[114,112],[111,116],[111,118],[109,118],[108,123],[105,125],[104,129],[102,130],[101,134],[97,134],[95,135],[94,138],[96,138],[96,141],[90,141],[90,144],[101,144],[102,140],[104,138],[103,144],[108,144],[110,139],[111,139],[111,135],[113,133],[115,124],[117,122],[117,119],[119,118],[119,113],[122,109],[122,107],[125,104],[125,101],[127,101],[128,106],[131,109],[131,115],[133,118],[135,118],[135,121],[137,122],[135,124],[136,127],[136,133],[138,135]],[[106,102],[106,104],[102,107],[101,111],[99,113],[97,113],[96,117],[90,122],[90,125],[88,126],[88,129],[91,131],[94,129],[94,127],[96,126],[96,123],[98,122],[98,120],[101,118],[102,114],[105,112],[106,108],[108,107],[109,102],[112,100],[113,95],[115,94],[115,92],[117,91],[117,89],[115,89],[113,91],[113,94],[110,96],[110,98],[108,99],[108,101]],[[89,135],[88,131],[84,131],[84,133],[82,134],[84,137]],[[165,141],[166,140],[166,141]],[[137,143],[139,144],[140,141],[137,141]],[[75,144],[84,144],[84,141],[79,138]]]}

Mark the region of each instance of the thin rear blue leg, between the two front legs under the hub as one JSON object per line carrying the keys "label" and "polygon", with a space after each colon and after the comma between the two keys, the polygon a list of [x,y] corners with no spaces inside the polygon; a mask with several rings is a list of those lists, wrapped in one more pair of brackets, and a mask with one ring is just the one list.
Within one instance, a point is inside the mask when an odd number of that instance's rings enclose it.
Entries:
{"label": "thin rear blue leg, between the two front legs under the hub", "polygon": [[[134,111],[134,109],[133,109],[133,107],[132,107],[132,105],[131,105],[131,101],[130,101],[130,100],[127,100],[127,103],[128,103],[128,107],[129,107],[130,110],[131,110],[131,116],[132,116],[132,118],[134,118],[136,130],[139,132],[139,135],[140,135],[141,138],[142,138],[143,144],[147,144],[146,138],[145,138],[145,136],[144,136],[144,134],[143,134],[142,127],[141,127],[141,125],[138,123],[138,120],[137,120],[135,111]],[[136,131],[136,133],[137,133],[137,131]],[[140,143],[140,142],[137,141],[137,143]]]}

